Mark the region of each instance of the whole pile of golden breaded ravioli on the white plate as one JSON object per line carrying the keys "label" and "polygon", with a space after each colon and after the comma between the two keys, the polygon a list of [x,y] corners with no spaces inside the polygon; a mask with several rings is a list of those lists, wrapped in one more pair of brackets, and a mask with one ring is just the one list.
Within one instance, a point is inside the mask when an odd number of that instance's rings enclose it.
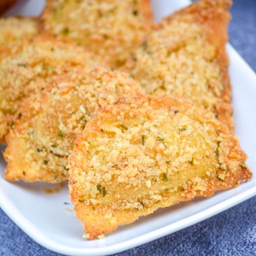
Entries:
{"label": "whole pile of golden breaded ravioli on the white plate", "polygon": [[68,180],[88,239],[249,181],[230,5],[199,0],[154,24],[148,0],[46,0],[39,18],[1,18],[5,179]]}

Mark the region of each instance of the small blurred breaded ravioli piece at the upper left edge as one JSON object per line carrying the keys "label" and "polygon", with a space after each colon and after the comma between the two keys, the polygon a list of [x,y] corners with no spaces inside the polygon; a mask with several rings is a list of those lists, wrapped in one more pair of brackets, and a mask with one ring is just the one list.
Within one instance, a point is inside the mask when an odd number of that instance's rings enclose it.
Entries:
{"label": "small blurred breaded ravioli piece at the upper left edge", "polygon": [[24,38],[32,38],[36,34],[38,34],[38,20],[36,18],[0,18],[0,46]]}

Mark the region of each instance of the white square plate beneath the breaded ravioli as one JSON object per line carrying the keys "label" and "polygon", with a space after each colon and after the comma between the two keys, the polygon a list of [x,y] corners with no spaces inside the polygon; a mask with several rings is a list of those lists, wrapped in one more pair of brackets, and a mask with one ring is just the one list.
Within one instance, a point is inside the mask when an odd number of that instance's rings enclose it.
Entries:
{"label": "white square plate beneath the breaded ravioli", "polygon": [[[22,0],[9,13],[38,15],[43,0]],[[186,0],[153,0],[156,20],[175,9],[189,4]],[[233,85],[236,134],[249,156],[248,164],[256,172],[256,75],[243,59],[228,45],[230,76]],[[59,193],[46,194],[44,189],[58,187],[42,183],[8,183],[3,179],[5,162],[0,160],[0,206],[5,213],[40,245],[66,255],[109,255],[125,251],[156,238],[165,236],[197,222],[210,218],[253,195],[256,195],[256,175],[248,183],[216,193],[209,199],[195,199],[179,203],[137,222],[123,226],[102,240],[86,241],[82,238],[82,224],[70,212],[67,185]],[[255,173],[256,174],[256,173]],[[60,186],[59,186],[60,187]],[[68,208],[68,209],[67,209]]]}

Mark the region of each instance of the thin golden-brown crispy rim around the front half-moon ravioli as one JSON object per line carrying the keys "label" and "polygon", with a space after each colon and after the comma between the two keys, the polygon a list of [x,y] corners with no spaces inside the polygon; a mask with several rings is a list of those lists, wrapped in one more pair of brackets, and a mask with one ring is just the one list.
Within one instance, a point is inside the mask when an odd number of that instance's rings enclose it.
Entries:
{"label": "thin golden-brown crispy rim around the front half-moon ravioli", "polygon": [[[212,125],[218,127],[219,131],[229,137],[230,151],[234,152],[235,150],[235,153],[241,157],[241,160],[246,160],[247,156],[243,152],[243,150],[238,147],[238,141],[234,139],[234,136],[232,134],[230,134],[226,125],[223,125],[222,123],[220,123],[220,121],[212,120],[212,113],[211,115],[209,115],[207,111],[196,108],[195,106],[193,106],[193,104],[191,104],[191,102],[187,100],[177,99],[170,96],[161,96],[159,98],[148,96],[148,98],[150,98],[152,106],[156,105],[164,108],[171,108],[172,106],[178,104],[183,105],[188,109],[194,108],[195,114],[197,114],[201,118],[201,121],[212,123]],[[139,107],[146,100],[148,100],[146,96],[139,96],[138,98],[135,98],[134,102],[136,102],[135,104],[137,104],[137,106]],[[122,104],[117,104],[113,106],[113,108],[117,110],[115,111],[115,115],[119,115],[122,110],[127,111],[127,108],[123,107]],[[100,130],[100,123],[102,123],[106,117],[106,115],[104,114],[113,113],[113,108],[106,108],[102,110],[102,113],[98,116],[97,119],[93,119],[92,121],[88,122],[84,133],[77,137],[74,144],[75,146],[73,149],[73,153],[71,154],[71,156],[69,156],[69,166],[71,167],[71,169],[69,170],[69,193],[71,196],[71,200],[75,204],[75,214],[77,218],[81,220],[81,222],[84,224],[84,232],[88,234],[89,239],[94,239],[100,234],[113,232],[119,226],[130,224],[137,220],[140,216],[146,216],[148,214],[151,214],[160,207],[168,207],[170,205],[173,205],[174,203],[179,203],[180,201],[188,201],[193,199],[193,197],[195,196],[210,197],[220,189],[231,189],[237,187],[240,183],[248,181],[252,176],[252,173],[248,168],[241,166],[241,169],[235,173],[232,173],[232,176],[225,183],[217,178],[213,181],[207,181],[206,191],[187,193],[187,195],[185,195],[183,198],[174,197],[171,198],[169,201],[162,203],[162,205],[160,206],[156,204],[153,207],[150,207],[150,209],[141,210],[139,213],[137,212],[137,214],[135,214],[134,212],[119,211],[115,212],[115,218],[110,218],[109,220],[104,218],[104,212],[101,211],[101,214],[98,213],[95,218],[95,211],[92,209],[92,207],[87,206],[82,202],[77,202],[78,193],[77,189],[73,186],[75,184],[75,177],[73,177],[72,168],[77,167],[77,160],[75,154],[79,152],[79,148],[82,147],[82,142],[88,137],[86,131],[88,131],[88,133],[93,133],[94,131]]]}

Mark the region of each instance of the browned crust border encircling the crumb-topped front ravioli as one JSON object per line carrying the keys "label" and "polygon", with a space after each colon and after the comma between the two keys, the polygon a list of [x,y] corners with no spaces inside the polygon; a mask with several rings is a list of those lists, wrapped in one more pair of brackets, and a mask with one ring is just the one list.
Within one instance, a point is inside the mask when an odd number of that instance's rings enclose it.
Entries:
{"label": "browned crust border encircling the crumb-topped front ravioli", "polygon": [[[123,102],[113,106],[113,108],[104,109],[102,113],[98,115],[97,119],[90,121],[86,125],[84,133],[79,135],[75,141],[73,154],[69,156],[69,165],[71,166],[69,177],[70,195],[73,203],[75,204],[76,216],[84,224],[84,231],[86,232],[87,238],[89,239],[94,239],[101,234],[113,232],[113,230],[118,228],[118,226],[130,224],[131,222],[137,220],[137,218],[140,216],[151,214],[160,207],[168,207],[174,203],[179,203],[180,201],[188,201],[196,196],[210,197],[220,189],[232,189],[237,187],[239,184],[248,181],[252,176],[247,166],[239,166],[233,172],[230,172],[230,174],[225,177],[224,181],[217,179],[217,177],[214,179],[206,179],[205,181],[207,182],[207,187],[205,191],[196,190],[192,187],[189,187],[183,196],[174,195],[163,202],[156,203],[150,208],[143,208],[143,210],[139,211],[116,210],[113,212],[114,217],[110,219],[104,218],[104,214],[106,214],[106,212],[104,212],[105,208],[102,205],[86,205],[85,203],[80,202],[79,195],[77,193],[77,187],[75,187],[76,177],[73,176],[73,169],[79,168],[81,166],[81,162],[77,160],[80,158],[76,156],[76,154],[79,154],[78,152],[83,152],[82,154],[84,154],[84,156],[89,154],[83,150],[84,141],[86,141],[88,137],[96,136],[96,132],[100,130],[100,125],[104,122],[104,119],[106,119],[106,115],[110,114],[113,116],[119,116],[121,113],[124,114],[129,111],[133,111],[134,109],[136,109],[135,111],[139,111],[139,108],[142,106],[143,102],[148,99],[150,99],[150,105],[156,106],[156,108],[171,109],[173,106],[179,106],[183,109],[186,108],[187,110],[193,109],[191,112],[193,118],[198,118],[202,123],[210,123],[215,129],[218,129],[218,131],[220,131],[224,137],[226,137],[227,143],[224,147],[228,147],[229,161],[236,160],[245,162],[247,158],[245,152],[243,152],[243,150],[241,150],[241,148],[238,146],[238,141],[232,134],[230,134],[230,131],[228,131],[225,125],[219,121],[214,120],[212,113],[207,113],[206,111],[200,110],[199,108],[195,108],[193,104],[186,100],[168,96],[161,96],[159,98],[146,98],[145,96],[139,96],[135,98],[133,102],[124,103],[125,99],[123,99]],[[133,105],[133,107],[130,107],[131,105]]]}

